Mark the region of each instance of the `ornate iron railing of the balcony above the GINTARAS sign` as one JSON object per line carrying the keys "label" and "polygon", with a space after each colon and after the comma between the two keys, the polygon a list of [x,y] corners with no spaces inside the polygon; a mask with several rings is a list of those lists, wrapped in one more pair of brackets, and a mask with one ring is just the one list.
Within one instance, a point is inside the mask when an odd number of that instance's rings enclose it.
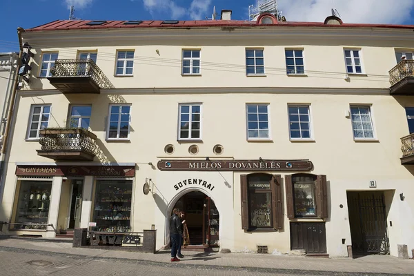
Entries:
{"label": "ornate iron railing of the balcony above the GINTARAS sign", "polygon": [[41,150],[82,150],[95,154],[97,136],[84,128],[44,128],[40,133]]}

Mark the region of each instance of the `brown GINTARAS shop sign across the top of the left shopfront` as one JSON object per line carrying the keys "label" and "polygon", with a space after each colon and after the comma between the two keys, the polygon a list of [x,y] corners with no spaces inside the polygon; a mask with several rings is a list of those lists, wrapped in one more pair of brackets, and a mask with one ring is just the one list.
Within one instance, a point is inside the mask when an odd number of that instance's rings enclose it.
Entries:
{"label": "brown GINTARAS shop sign across the top of the left shopfront", "polygon": [[133,166],[17,166],[19,176],[134,177]]}

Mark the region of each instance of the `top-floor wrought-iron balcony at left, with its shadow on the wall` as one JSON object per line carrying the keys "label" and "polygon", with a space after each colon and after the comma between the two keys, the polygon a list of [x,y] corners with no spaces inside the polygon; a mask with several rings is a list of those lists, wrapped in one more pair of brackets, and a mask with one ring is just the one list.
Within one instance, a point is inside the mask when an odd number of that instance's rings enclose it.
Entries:
{"label": "top-floor wrought-iron balcony at left, with its shadow on the wall", "polygon": [[50,84],[63,94],[99,94],[101,89],[115,88],[92,59],[57,59],[50,74]]}

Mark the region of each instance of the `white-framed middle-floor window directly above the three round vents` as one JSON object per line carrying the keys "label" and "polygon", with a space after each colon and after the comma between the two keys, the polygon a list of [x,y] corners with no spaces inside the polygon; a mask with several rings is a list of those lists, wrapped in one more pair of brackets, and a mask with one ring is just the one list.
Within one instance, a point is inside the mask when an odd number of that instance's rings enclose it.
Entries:
{"label": "white-framed middle-floor window directly above the three round vents", "polygon": [[178,139],[201,139],[201,104],[179,105]]}

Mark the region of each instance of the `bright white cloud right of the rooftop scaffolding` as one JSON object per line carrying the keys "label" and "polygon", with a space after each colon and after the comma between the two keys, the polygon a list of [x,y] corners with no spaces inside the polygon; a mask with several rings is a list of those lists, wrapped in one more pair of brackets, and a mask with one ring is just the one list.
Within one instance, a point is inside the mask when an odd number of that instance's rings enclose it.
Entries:
{"label": "bright white cloud right of the rooftop scaffolding", "polygon": [[414,8],[413,0],[279,0],[288,21],[323,22],[336,9],[344,23],[404,23]]}

